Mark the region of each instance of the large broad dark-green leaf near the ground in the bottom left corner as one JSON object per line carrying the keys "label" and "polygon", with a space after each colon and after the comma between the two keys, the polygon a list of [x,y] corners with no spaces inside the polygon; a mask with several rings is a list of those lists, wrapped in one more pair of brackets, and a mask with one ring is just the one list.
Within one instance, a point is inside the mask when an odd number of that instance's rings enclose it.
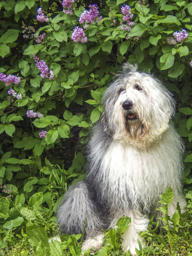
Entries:
{"label": "large broad dark-green leaf near the ground in the bottom left corner", "polygon": [[39,227],[37,225],[31,225],[26,228],[26,234],[28,236],[29,243],[34,250],[36,250],[39,242],[41,242],[43,247],[49,248],[49,242],[45,228]]}

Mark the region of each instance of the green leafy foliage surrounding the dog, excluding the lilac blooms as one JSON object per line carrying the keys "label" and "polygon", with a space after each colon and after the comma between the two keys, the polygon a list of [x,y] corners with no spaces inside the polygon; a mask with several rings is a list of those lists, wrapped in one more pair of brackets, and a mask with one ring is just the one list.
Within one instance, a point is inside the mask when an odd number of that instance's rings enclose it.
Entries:
{"label": "green leafy foliage surrounding the dog, excluding the lilac blooms", "polygon": [[[121,12],[124,3],[131,7],[133,18]],[[137,63],[141,70],[155,74],[173,92],[179,109],[174,123],[186,145],[183,182],[186,192],[191,190],[192,67],[189,63],[192,60],[192,3],[176,0],[98,1],[102,19],[98,21],[96,18],[94,24],[80,24],[78,20],[85,6],[88,8],[86,1],[76,1],[73,14],[69,15],[62,12],[60,2],[51,0],[0,2],[0,73],[4,74],[0,78],[0,183],[3,184],[0,245],[3,249],[9,248],[10,243],[16,243],[19,238],[21,242],[13,247],[14,253],[17,248],[19,252],[25,246],[29,248],[28,239],[37,255],[45,255],[51,247],[60,248],[57,241],[47,244],[45,232],[49,237],[57,233],[54,214],[58,199],[69,183],[84,177],[87,134],[103,112],[100,103],[105,89],[126,61]],[[36,20],[38,7],[42,7],[49,21]],[[84,29],[78,42],[72,40],[76,26]],[[188,36],[177,41],[173,33],[183,29]],[[82,41],[83,37],[87,41]],[[19,83],[16,77],[21,78]],[[33,110],[30,115],[26,115],[28,110]],[[44,132],[39,135],[42,130]],[[180,222],[184,221],[179,208],[176,215]],[[170,220],[168,216],[166,218]],[[189,222],[186,223],[182,225],[189,228]],[[172,233],[178,232],[178,221],[173,223],[175,230],[165,228],[167,240],[161,233],[155,235],[152,224],[151,219],[146,233],[146,236],[150,235],[148,242],[152,251],[141,248],[140,255],[158,251],[153,246],[157,241],[154,239],[164,241],[162,246],[169,242],[169,252],[172,250],[170,239],[173,239],[173,247],[178,245]],[[34,230],[35,234],[37,225],[40,225],[38,232],[43,240],[38,238],[40,243],[34,245],[27,230]],[[187,226],[184,227],[186,230]],[[114,232],[109,231],[106,237],[114,238]],[[180,234],[181,240],[190,239],[186,237],[188,235]],[[58,249],[58,254],[65,246],[67,249],[71,243],[76,244],[79,236],[63,239],[65,243]],[[107,242],[105,246],[108,246]],[[106,255],[112,248],[105,246],[99,254]],[[119,245],[113,246],[118,251]],[[78,254],[79,249],[76,250]],[[110,251],[113,255],[114,250]],[[161,254],[158,252],[154,255]]]}

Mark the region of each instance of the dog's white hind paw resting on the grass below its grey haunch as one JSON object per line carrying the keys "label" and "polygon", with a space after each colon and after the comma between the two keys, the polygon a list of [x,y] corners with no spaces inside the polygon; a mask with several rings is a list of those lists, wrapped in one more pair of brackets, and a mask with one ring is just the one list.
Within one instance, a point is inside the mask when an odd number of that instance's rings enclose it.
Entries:
{"label": "dog's white hind paw resting on the grass below its grey haunch", "polygon": [[86,239],[81,247],[82,252],[92,247],[95,248],[95,251],[98,251],[103,246],[103,242],[102,242],[103,237],[104,235],[98,235],[98,236],[90,237]]}

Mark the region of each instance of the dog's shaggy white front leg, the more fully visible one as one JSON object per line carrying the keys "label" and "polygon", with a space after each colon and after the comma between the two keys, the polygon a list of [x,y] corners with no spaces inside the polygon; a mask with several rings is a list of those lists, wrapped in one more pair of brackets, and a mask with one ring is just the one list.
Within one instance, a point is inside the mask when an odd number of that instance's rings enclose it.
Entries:
{"label": "dog's shaggy white front leg, the more fully visible one", "polygon": [[124,250],[130,250],[132,255],[137,255],[135,252],[135,248],[139,247],[137,239],[140,240],[143,247],[146,245],[145,239],[140,237],[139,233],[140,231],[146,231],[148,229],[149,220],[138,210],[132,210],[129,213],[129,217],[131,217],[131,223],[128,230],[123,234],[122,248]]}

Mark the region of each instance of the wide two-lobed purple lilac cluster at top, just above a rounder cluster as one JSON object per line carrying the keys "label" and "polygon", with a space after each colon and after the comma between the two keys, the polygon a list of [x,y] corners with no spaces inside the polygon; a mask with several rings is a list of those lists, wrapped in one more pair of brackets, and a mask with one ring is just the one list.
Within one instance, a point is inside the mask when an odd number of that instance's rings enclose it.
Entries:
{"label": "wide two-lobed purple lilac cluster at top, just above a rounder cluster", "polygon": [[[79,23],[82,24],[84,23],[84,28],[88,28],[88,24],[89,22],[91,22],[92,24],[95,23],[95,18],[97,18],[99,15],[99,10],[98,10],[98,6],[97,4],[90,4],[89,5],[89,11],[84,11],[80,18],[79,18]],[[102,19],[102,16],[99,16],[99,18],[97,19],[97,22],[100,22]]]}

